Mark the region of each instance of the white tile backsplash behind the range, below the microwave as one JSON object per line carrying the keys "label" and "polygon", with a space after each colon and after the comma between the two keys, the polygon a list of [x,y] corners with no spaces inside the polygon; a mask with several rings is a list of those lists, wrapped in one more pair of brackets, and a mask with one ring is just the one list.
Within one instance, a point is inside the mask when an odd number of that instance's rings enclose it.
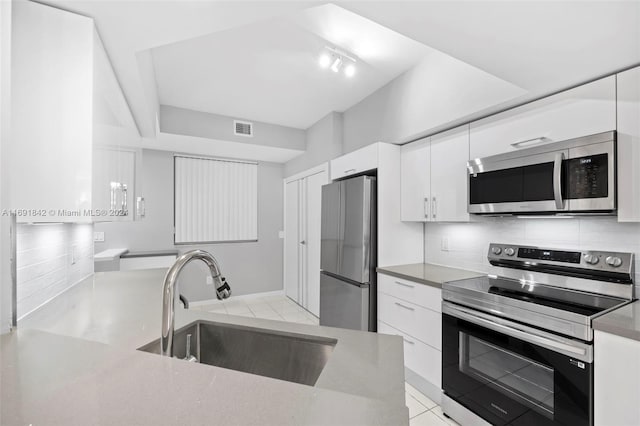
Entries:
{"label": "white tile backsplash behind the range, below the microwave", "polygon": [[[449,251],[441,249],[443,238],[449,240]],[[425,262],[488,272],[490,242],[635,253],[636,293],[640,294],[640,223],[618,223],[615,217],[480,217],[471,223],[427,223]]]}

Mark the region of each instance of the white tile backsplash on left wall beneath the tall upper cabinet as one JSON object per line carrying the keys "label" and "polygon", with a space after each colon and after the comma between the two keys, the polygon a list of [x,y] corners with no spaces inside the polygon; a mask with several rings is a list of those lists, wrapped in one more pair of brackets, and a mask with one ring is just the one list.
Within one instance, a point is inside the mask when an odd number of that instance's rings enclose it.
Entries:
{"label": "white tile backsplash on left wall beneath the tall upper cabinet", "polygon": [[18,318],[93,273],[93,225],[19,224],[16,243]]}

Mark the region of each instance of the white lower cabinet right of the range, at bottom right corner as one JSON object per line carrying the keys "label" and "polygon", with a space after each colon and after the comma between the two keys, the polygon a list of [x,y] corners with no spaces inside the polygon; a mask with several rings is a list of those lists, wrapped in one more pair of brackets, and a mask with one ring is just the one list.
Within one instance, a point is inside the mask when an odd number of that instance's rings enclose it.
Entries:
{"label": "white lower cabinet right of the range, at bottom right corner", "polygon": [[640,425],[640,342],[596,330],[593,348],[594,425]]}

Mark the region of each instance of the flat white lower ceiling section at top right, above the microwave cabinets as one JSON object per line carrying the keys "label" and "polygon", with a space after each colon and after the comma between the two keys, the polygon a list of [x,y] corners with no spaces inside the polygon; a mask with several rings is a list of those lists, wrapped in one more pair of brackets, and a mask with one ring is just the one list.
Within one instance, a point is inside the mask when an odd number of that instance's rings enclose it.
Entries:
{"label": "flat white lower ceiling section at top right, above the microwave cabinets", "polygon": [[340,2],[533,94],[640,63],[640,1]]}

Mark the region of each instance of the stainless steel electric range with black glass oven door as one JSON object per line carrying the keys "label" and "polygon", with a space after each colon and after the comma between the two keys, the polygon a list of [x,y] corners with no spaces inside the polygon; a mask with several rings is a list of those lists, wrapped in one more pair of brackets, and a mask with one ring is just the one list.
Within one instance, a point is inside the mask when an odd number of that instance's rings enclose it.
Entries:
{"label": "stainless steel electric range with black glass oven door", "polygon": [[594,318],[634,299],[632,253],[490,244],[442,286],[443,411],[465,426],[592,425]]}

